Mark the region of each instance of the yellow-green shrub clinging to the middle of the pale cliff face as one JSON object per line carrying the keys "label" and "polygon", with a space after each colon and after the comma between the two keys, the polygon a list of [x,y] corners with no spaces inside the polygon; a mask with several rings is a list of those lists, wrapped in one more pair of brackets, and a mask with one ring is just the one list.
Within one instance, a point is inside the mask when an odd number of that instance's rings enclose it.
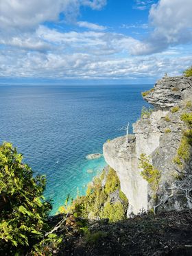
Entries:
{"label": "yellow-green shrub clinging to the middle of the pale cliff face", "polygon": [[143,169],[141,176],[151,185],[152,190],[156,191],[160,181],[160,171],[149,163],[149,157],[146,154],[141,154],[139,167]]}

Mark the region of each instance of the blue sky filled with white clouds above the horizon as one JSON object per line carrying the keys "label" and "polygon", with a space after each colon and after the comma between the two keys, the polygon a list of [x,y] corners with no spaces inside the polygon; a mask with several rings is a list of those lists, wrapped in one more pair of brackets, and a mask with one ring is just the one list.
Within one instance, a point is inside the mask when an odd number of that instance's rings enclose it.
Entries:
{"label": "blue sky filled with white clouds above the horizon", "polygon": [[192,65],[191,0],[0,0],[0,82],[153,83]]}

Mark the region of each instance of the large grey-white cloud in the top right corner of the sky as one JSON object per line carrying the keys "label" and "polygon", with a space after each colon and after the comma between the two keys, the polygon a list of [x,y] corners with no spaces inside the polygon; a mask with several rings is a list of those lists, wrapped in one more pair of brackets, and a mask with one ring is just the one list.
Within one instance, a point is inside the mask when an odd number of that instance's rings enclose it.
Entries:
{"label": "large grey-white cloud in the top right corner of the sky", "polygon": [[169,46],[192,43],[192,1],[160,0],[149,11],[154,31],[134,47],[133,54],[153,54]]}

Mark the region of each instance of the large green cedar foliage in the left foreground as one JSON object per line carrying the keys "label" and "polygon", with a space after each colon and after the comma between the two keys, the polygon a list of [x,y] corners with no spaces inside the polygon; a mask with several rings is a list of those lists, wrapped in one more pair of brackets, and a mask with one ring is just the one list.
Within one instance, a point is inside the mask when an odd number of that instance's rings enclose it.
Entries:
{"label": "large green cedar foliage in the left foreground", "polygon": [[11,143],[0,146],[0,247],[21,252],[43,237],[51,205],[43,198],[45,176],[33,177]]}

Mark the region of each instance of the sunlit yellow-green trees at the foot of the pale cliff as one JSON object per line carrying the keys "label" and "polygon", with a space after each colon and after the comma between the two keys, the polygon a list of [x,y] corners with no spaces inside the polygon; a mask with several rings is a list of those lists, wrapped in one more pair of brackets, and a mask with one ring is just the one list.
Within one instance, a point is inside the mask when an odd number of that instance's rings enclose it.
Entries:
{"label": "sunlit yellow-green trees at the foot of the pale cliff", "polygon": [[[105,181],[105,182],[104,182]],[[102,185],[102,183],[105,183]],[[116,194],[112,200],[112,194]],[[88,185],[86,196],[78,196],[68,207],[60,207],[60,212],[70,212],[75,217],[108,218],[110,222],[122,220],[126,217],[128,199],[120,189],[119,178],[112,168],[108,173],[95,177]]]}

